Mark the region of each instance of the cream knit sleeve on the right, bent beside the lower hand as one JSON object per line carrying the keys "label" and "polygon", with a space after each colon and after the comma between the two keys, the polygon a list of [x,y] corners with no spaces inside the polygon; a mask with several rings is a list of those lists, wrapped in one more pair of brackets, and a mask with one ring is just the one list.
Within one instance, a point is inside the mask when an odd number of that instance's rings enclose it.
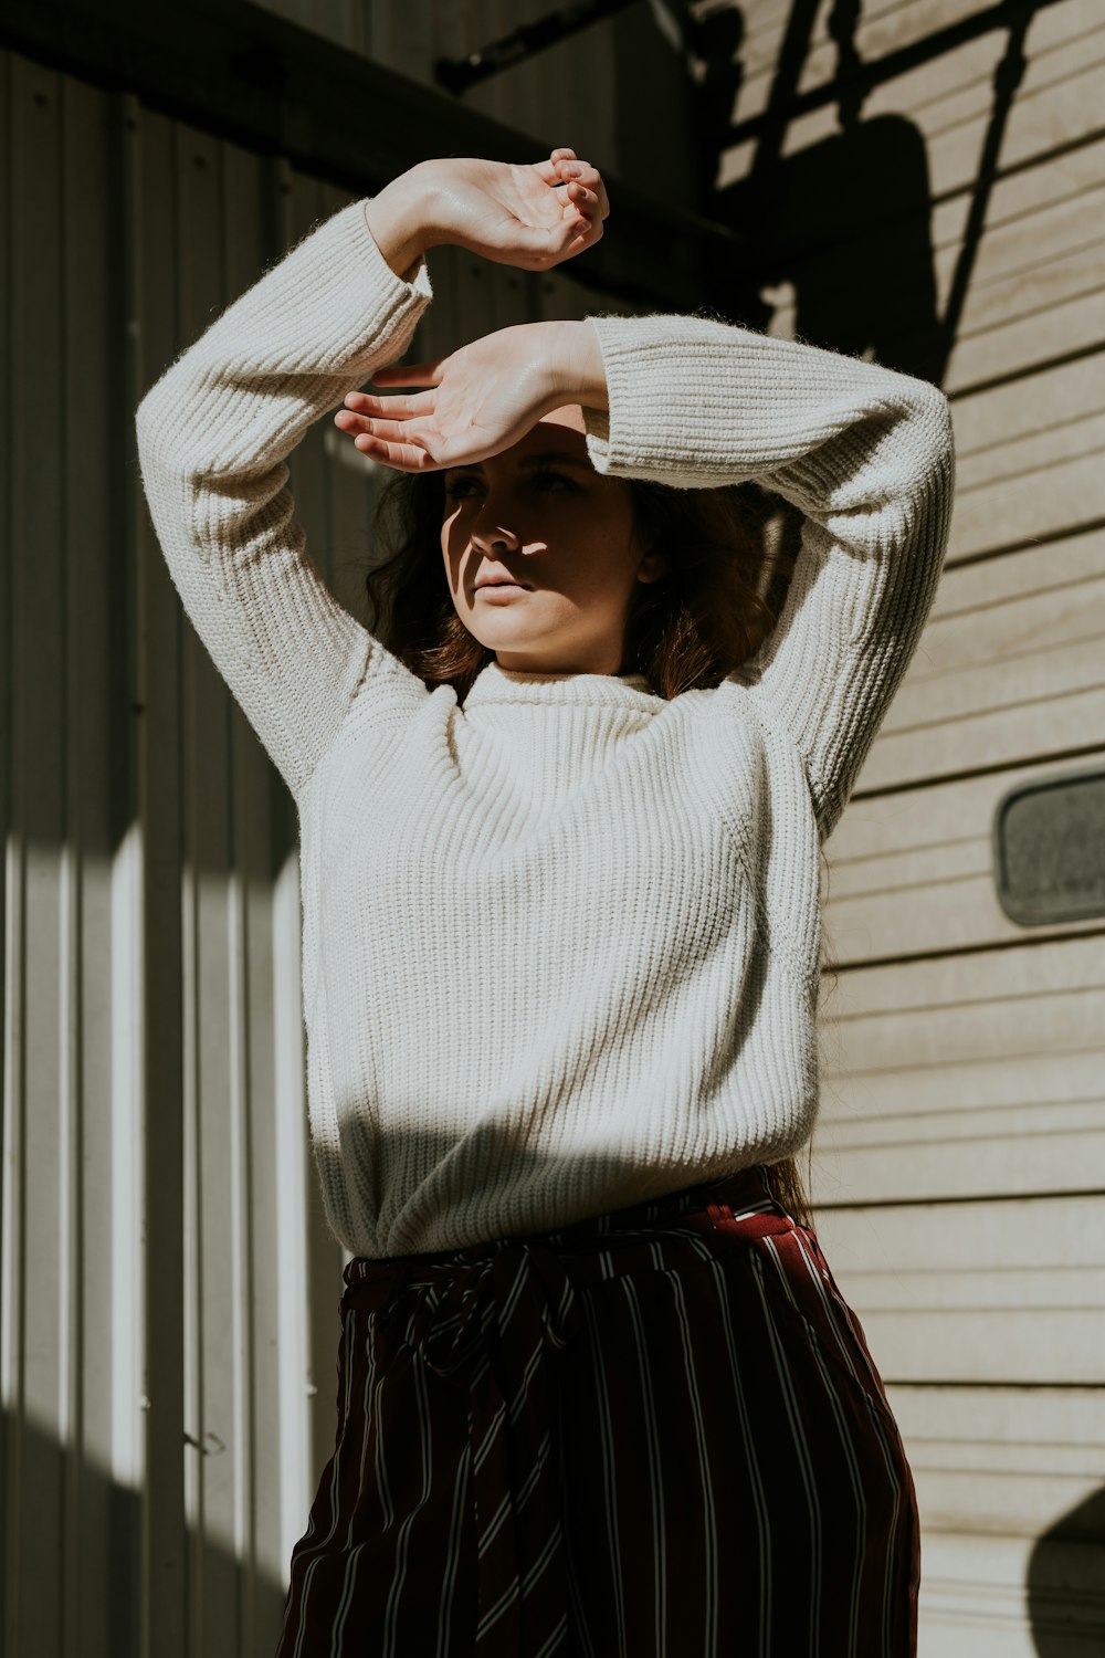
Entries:
{"label": "cream knit sleeve on the right, bent beside the lower hand", "polygon": [[737,675],[802,754],[822,839],[918,643],[953,496],[933,385],[704,317],[591,317],[610,414],[600,473],[674,487],[755,481],[803,514],[782,615]]}

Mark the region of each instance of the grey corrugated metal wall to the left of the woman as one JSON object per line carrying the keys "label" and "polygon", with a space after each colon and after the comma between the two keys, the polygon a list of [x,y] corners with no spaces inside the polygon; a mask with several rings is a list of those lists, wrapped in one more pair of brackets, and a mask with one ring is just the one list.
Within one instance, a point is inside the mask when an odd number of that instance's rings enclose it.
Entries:
{"label": "grey corrugated metal wall to the left of the woman", "polygon": [[[133,416],[350,197],[0,68],[0,1650],[267,1655],[333,1444],[341,1290],[306,1146],[295,821],[182,615]],[[431,257],[416,356],[586,308],[557,274]],[[293,459],[353,608],[374,484],[326,423]]]}

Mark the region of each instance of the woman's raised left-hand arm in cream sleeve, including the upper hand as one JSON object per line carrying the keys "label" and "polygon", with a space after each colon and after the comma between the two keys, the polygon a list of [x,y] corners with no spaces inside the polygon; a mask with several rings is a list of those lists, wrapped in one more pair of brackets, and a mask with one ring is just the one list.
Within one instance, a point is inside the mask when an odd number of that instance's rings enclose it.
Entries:
{"label": "woman's raised left-hand arm in cream sleeve, including the upper hand", "polygon": [[311,230],[138,410],[172,580],[297,797],[369,678],[381,703],[426,693],[318,575],[287,458],[313,421],[403,355],[432,297],[427,247],[457,242],[550,269],[601,235],[605,192],[575,167],[572,151],[532,166],[421,162]]}

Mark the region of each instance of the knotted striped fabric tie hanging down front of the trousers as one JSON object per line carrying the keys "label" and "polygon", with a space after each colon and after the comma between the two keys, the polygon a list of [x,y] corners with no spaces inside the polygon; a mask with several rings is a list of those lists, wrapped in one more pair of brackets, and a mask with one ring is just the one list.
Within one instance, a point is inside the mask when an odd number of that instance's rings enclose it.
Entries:
{"label": "knotted striped fabric tie hanging down front of the trousers", "polygon": [[550,1361],[575,1335],[578,1308],[553,1250],[524,1239],[487,1248],[417,1283],[406,1341],[434,1374],[470,1391],[475,1651],[542,1658],[565,1640],[568,1613],[558,1486],[545,1477],[557,1423]]}

